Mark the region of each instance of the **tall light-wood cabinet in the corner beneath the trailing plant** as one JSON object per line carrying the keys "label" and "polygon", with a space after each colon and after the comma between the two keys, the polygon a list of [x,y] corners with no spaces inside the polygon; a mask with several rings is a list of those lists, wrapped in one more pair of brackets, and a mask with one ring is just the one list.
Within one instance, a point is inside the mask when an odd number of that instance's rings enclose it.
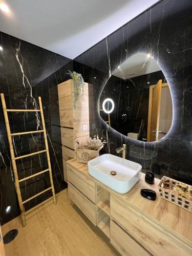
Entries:
{"label": "tall light-wood cabinet in the corner beneath the trailing plant", "polygon": [[84,144],[90,137],[88,88],[89,84],[84,83],[84,101],[79,97],[74,107],[73,80],[69,79],[58,84],[62,160],[66,182],[68,181],[66,161],[75,158],[75,150],[78,143]]}

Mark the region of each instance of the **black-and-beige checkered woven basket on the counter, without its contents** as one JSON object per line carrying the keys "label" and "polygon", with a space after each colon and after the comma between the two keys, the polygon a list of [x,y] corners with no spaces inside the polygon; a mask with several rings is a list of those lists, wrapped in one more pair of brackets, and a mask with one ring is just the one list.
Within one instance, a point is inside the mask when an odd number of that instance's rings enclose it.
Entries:
{"label": "black-and-beige checkered woven basket on the counter, without its contents", "polygon": [[[163,187],[161,187],[163,184]],[[161,182],[158,185],[160,195],[163,199],[178,205],[179,207],[192,212],[192,201],[179,196],[175,191],[173,191],[173,187],[176,184],[185,185],[187,188],[192,189],[192,186],[182,183],[180,181],[168,178],[163,176]],[[192,197],[191,197],[192,200]]]}

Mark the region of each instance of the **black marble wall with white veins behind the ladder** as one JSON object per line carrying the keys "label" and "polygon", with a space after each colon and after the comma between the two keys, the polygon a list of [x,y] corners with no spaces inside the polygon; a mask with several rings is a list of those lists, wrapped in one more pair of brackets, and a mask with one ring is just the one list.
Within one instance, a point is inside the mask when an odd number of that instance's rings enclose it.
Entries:
{"label": "black marble wall with white veins behind the ladder", "polygon": [[[0,32],[0,92],[5,94],[9,109],[36,109],[38,96],[44,108],[48,143],[50,150],[53,181],[56,193],[65,189],[63,181],[60,122],[58,109],[57,84],[67,80],[68,70],[73,70],[72,60],[36,47],[28,42]],[[0,205],[1,224],[19,215],[16,198],[9,144],[5,121],[0,106]],[[35,113],[9,114],[11,132],[41,130],[41,119]],[[15,155],[25,155],[45,148],[42,133],[14,137]],[[17,160],[20,179],[47,168],[46,154],[39,154]],[[49,174],[39,175],[20,183],[23,200],[50,186]],[[26,210],[52,196],[45,194],[25,204]],[[9,214],[5,210],[12,206]]]}

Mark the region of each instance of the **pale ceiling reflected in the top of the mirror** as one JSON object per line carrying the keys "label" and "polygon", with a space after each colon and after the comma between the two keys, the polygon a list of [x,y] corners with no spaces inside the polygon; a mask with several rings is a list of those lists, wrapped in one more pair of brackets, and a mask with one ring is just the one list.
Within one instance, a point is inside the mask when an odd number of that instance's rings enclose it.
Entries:
{"label": "pale ceiling reflected in the top of the mirror", "polygon": [[136,53],[125,60],[121,66],[113,72],[113,75],[122,79],[128,79],[160,70],[155,60],[148,57],[146,53]]}

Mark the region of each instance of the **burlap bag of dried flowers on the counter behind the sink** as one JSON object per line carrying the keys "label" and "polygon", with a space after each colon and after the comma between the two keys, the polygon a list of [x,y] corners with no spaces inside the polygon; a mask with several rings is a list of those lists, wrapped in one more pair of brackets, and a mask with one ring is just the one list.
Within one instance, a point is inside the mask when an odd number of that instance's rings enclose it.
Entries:
{"label": "burlap bag of dried flowers on the counter behind the sink", "polygon": [[98,136],[94,136],[92,139],[87,140],[87,145],[81,145],[77,147],[77,162],[88,163],[93,158],[99,156],[99,151],[105,144],[105,140],[99,139]]}

